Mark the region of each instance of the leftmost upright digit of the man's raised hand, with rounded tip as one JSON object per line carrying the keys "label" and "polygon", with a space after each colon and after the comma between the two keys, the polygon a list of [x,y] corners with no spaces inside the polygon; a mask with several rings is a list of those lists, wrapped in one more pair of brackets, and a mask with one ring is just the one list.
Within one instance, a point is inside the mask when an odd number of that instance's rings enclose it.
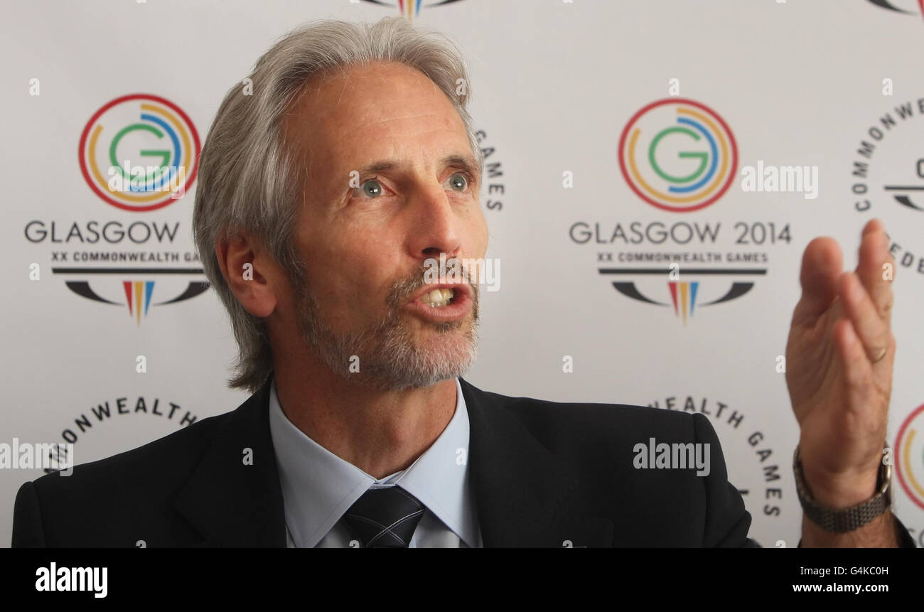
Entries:
{"label": "leftmost upright digit of the man's raised hand, with rounded tip", "polygon": [[793,312],[793,321],[811,322],[825,312],[837,298],[844,257],[837,241],[823,237],[808,243],[802,254],[799,283],[802,297]]}

